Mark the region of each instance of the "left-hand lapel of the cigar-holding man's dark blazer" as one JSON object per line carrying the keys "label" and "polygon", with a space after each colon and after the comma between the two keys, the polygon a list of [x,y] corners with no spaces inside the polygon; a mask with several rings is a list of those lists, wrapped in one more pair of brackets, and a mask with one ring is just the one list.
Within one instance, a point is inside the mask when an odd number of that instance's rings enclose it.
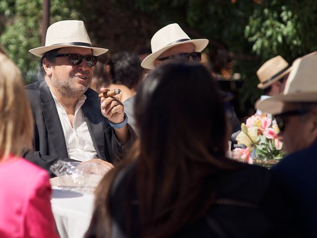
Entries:
{"label": "left-hand lapel of the cigar-holding man's dark blazer", "polygon": [[48,130],[48,143],[53,146],[54,152],[57,156],[68,158],[63,128],[58,117],[50,88],[45,81],[40,84],[40,98],[42,100],[41,107]]}

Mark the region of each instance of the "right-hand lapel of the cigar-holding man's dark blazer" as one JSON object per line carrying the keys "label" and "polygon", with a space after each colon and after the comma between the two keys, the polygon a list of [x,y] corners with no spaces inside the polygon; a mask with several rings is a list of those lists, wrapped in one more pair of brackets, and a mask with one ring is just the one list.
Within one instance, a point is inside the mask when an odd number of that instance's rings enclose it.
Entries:
{"label": "right-hand lapel of the cigar-holding man's dark blazer", "polygon": [[104,116],[100,111],[100,102],[98,103],[98,96],[96,93],[88,88],[85,95],[87,96],[85,103],[81,107],[87,123],[94,147],[98,154],[98,158],[106,160],[105,155],[105,133],[102,121]]}

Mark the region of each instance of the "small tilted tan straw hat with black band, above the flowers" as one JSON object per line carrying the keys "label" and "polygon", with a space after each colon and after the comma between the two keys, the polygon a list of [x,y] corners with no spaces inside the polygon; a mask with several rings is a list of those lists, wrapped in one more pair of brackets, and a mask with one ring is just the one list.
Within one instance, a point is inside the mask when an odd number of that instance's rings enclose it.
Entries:
{"label": "small tilted tan straw hat with black band, above the flowers", "polygon": [[267,60],[257,71],[260,80],[258,88],[265,89],[291,71],[288,62],[281,56]]}

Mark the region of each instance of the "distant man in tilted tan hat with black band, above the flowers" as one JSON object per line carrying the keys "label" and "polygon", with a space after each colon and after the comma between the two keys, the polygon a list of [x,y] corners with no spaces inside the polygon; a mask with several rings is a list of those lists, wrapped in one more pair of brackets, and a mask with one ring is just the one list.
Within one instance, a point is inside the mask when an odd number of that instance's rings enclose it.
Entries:
{"label": "distant man in tilted tan hat with black band, above the flowers", "polygon": [[[264,90],[264,95],[260,99],[264,100],[282,94],[290,71],[291,67],[281,56],[264,62],[257,71],[260,80],[258,88]],[[257,110],[257,114],[261,115],[261,111]]]}

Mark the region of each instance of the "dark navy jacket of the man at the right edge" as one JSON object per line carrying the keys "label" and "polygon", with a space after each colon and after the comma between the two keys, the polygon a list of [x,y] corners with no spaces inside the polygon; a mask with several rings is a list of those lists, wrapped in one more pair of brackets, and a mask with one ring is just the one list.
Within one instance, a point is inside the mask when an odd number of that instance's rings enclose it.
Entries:
{"label": "dark navy jacket of the man at the right edge", "polygon": [[[283,158],[271,171],[284,190],[286,212],[299,237],[317,237],[317,142]],[[293,214],[289,214],[293,211]]]}

